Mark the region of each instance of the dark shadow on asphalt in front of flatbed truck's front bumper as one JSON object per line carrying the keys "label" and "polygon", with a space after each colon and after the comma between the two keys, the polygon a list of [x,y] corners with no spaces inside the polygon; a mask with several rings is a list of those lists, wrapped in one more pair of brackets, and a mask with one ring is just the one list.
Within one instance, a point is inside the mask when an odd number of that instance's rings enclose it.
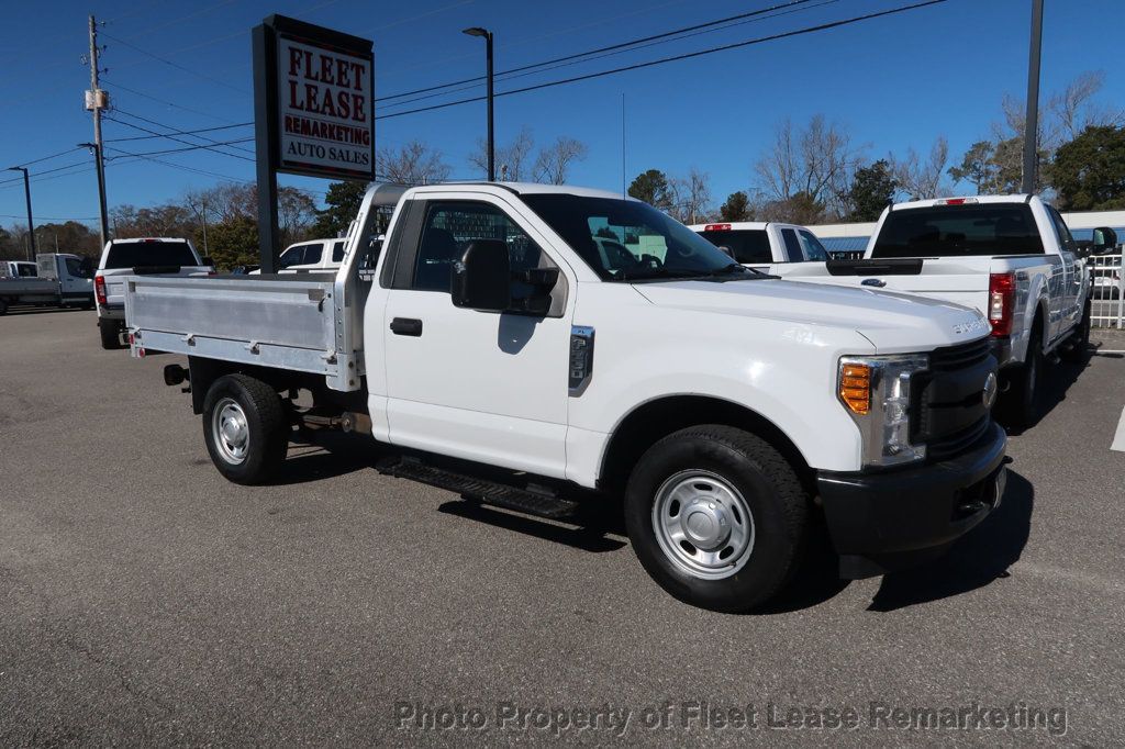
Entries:
{"label": "dark shadow on asphalt in front of flatbed truck's front bumper", "polygon": [[932,563],[883,577],[868,611],[891,612],[948,598],[1002,580],[1019,560],[1032,532],[1035,488],[1008,471],[1004,503]]}

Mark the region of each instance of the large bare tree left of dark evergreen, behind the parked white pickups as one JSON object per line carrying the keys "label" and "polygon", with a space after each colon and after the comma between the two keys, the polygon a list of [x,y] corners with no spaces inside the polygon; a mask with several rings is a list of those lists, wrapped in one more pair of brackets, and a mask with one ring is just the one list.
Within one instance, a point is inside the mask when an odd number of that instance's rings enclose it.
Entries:
{"label": "large bare tree left of dark evergreen, behind the parked white pickups", "polygon": [[754,164],[754,172],[771,200],[785,202],[803,195],[835,210],[861,164],[861,152],[847,132],[824,115],[813,116],[803,129],[785,119],[777,126],[773,145]]}

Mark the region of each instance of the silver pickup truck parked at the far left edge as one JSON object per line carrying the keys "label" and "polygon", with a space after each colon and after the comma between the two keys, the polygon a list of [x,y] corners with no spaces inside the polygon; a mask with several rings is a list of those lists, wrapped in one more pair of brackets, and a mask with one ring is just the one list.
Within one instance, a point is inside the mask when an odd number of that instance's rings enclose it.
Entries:
{"label": "silver pickup truck parked at the far left edge", "polygon": [[93,268],[79,255],[48,252],[35,256],[35,273],[20,262],[18,277],[0,278],[0,315],[11,305],[46,307],[93,306]]}

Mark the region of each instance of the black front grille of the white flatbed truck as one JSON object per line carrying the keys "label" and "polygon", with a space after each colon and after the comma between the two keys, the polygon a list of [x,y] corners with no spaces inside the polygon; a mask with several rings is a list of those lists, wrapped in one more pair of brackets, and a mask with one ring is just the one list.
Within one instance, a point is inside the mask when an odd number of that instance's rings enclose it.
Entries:
{"label": "black front grille of the white flatbed truck", "polygon": [[911,428],[915,444],[926,445],[929,461],[940,461],[972,448],[987,432],[984,380],[996,371],[989,340],[945,346],[929,355],[929,371],[911,381]]}

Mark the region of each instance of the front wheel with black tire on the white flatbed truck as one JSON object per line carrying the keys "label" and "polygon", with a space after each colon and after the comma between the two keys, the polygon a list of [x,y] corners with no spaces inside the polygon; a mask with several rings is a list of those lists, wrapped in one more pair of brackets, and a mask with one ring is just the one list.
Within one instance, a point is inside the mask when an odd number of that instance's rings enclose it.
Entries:
{"label": "front wheel with black tire on the white flatbed truck", "polygon": [[[721,559],[727,541],[718,545],[711,539],[711,551],[696,549],[692,543],[678,551],[667,550],[668,535],[658,530],[658,517],[668,515],[665,524],[681,522],[690,526],[692,515],[683,508],[673,512],[676,505],[667,500],[670,486],[690,485],[688,491],[700,485],[693,477],[710,481],[720,479],[737,491],[749,517],[728,512],[720,516],[720,523],[706,520],[708,511],[701,505],[701,514],[709,529],[749,522],[749,548],[740,554],[740,567],[731,562],[728,570],[696,574],[692,565],[690,549],[694,554],[716,553]],[[685,477],[685,478],[681,478]],[[680,484],[672,484],[680,481]],[[706,486],[706,485],[703,485]],[[710,495],[705,490],[701,496]],[[686,496],[686,495],[685,495]],[[691,506],[698,499],[691,500]],[[728,508],[723,503],[704,505]],[[662,512],[658,508],[667,508]],[[626,490],[626,525],[629,539],[641,565],[649,576],[669,594],[684,603],[720,612],[744,612],[758,606],[782,589],[796,569],[809,527],[809,497],[801,486],[796,471],[782,454],[760,437],[731,426],[706,424],[675,432],[648,449],[629,478]],[[686,515],[686,517],[684,516]],[[675,518],[682,518],[676,521]],[[729,520],[728,520],[729,518]],[[727,521],[722,523],[722,521]],[[685,536],[685,540],[687,536]],[[665,545],[662,545],[665,544]],[[732,552],[728,558],[736,559]],[[718,563],[718,560],[716,561]],[[729,571],[734,570],[734,571]],[[724,577],[718,577],[719,575]]]}

